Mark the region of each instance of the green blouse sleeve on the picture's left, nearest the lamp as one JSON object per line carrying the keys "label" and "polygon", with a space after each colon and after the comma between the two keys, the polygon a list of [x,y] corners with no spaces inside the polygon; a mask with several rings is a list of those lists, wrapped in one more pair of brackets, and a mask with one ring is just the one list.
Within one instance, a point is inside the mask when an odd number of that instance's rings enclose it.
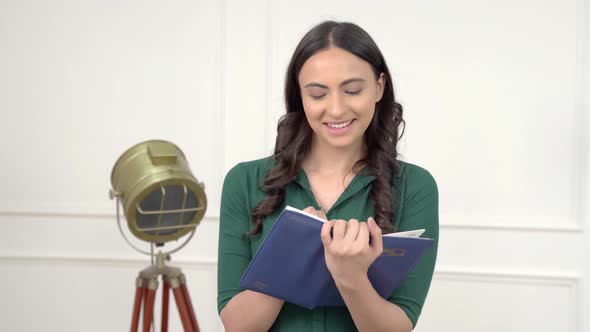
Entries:
{"label": "green blouse sleeve on the picture's left, nearest the lamp", "polygon": [[252,259],[250,245],[243,239],[250,222],[246,176],[243,167],[238,164],[228,172],[223,182],[217,252],[218,312],[242,291],[240,278]]}

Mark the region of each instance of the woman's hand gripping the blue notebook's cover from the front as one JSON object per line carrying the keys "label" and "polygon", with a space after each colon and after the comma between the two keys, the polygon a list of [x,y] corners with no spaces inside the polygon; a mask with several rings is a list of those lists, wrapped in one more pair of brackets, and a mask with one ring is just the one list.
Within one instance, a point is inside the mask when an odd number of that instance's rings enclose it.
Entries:
{"label": "woman's hand gripping the blue notebook's cover from the front", "polygon": [[321,237],[326,265],[339,287],[354,287],[366,278],[369,266],[383,252],[381,228],[372,217],[366,223],[356,219],[326,221]]}

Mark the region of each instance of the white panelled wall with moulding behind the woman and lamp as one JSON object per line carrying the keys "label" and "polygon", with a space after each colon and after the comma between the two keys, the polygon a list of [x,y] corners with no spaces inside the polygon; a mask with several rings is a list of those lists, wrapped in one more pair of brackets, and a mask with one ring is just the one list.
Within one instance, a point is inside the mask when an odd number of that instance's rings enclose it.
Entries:
{"label": "white panelled wall with moulding behind the woman and lamp", "polygon": [[439,260],[416,330],[590,331],[590,4],[383,4],[0,0],[3,326],[128,328],[148,260],[117,232],[109,176],[127,147],[164,138],[207,186],[205,221],[173,261],[202,329],[221,331],[223,176],[272,150],[289,56],[337,19],[381,47],[404,159],[439,184]]}

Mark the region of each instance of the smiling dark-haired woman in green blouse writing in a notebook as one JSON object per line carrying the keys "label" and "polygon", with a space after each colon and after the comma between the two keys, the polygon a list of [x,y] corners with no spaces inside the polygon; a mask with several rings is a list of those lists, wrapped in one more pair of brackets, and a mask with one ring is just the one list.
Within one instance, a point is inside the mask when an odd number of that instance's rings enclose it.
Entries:
{"label": "smiling dark-haired woman in green blouse writing in a notebook", "polygon": [[[402,107],[381,52],[360,27],[323,22],[296,48],[285,98],[274,155],[238,164],[224,181],[218,310],[226,330],[411,331],[436,260],[438,191],[426,170],[397,160]],[[286,205],[329,220],[321,231],[326,265],[345,307],[308,310],[240,289]],[[419,228],[433,247],[381,298],[367,269],[383,249],[369,236]]]}

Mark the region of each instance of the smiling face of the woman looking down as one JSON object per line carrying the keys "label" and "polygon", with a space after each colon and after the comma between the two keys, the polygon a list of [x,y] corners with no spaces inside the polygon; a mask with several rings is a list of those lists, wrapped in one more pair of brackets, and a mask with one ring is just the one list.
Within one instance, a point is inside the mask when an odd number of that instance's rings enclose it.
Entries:
{"label": "smiling face of the woman looking down", "polygon": [[384,74],[375,78],[368,62],[341,48],[310,57],[299,72],[299,87],[314,132],[312,145],[360,150],[384,80]]}

